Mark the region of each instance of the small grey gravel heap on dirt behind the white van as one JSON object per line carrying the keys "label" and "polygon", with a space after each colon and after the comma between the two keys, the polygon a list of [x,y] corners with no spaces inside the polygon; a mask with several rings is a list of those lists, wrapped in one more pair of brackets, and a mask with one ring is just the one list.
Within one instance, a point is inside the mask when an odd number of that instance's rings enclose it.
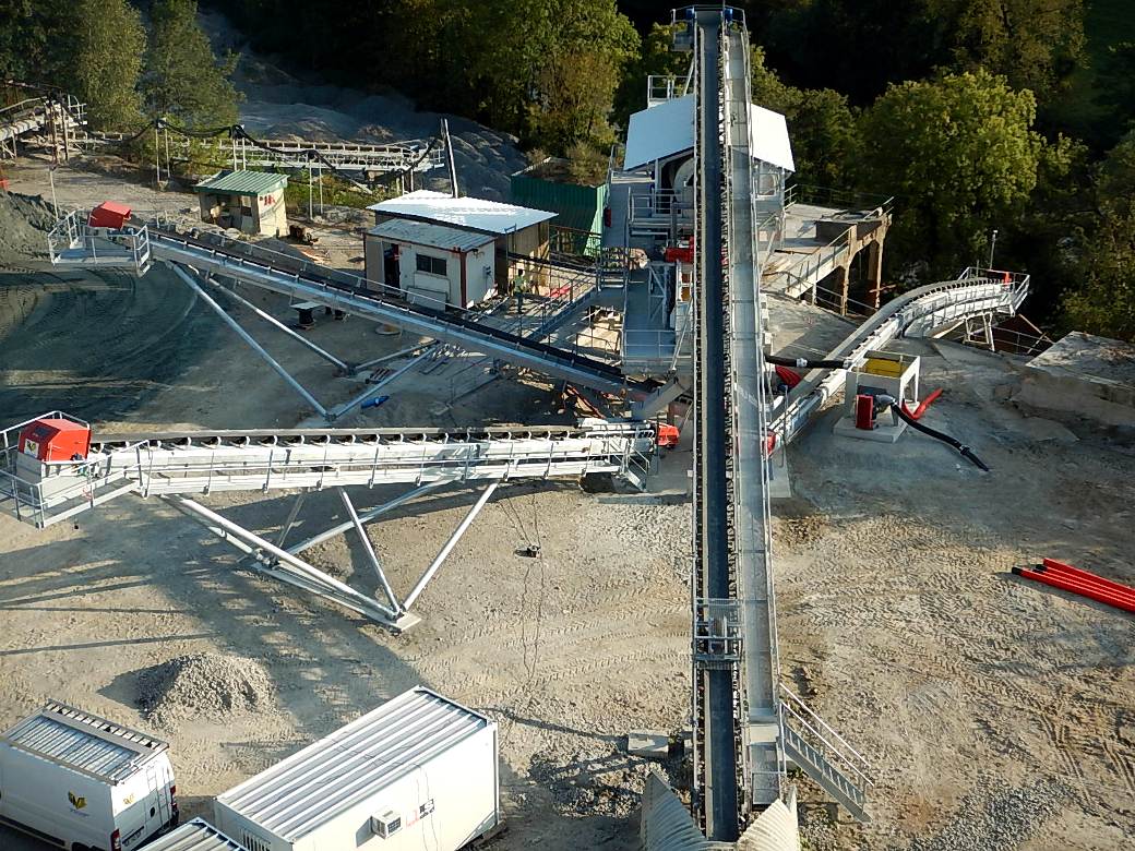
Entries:
{"label": "small grey gravel heap on dirt behind the white van", "polygon": [[275,711],[276,690],[259,664],[239,656],[191,654],[138,675],[138,706],[162,726],[178,721],[224,719]]}

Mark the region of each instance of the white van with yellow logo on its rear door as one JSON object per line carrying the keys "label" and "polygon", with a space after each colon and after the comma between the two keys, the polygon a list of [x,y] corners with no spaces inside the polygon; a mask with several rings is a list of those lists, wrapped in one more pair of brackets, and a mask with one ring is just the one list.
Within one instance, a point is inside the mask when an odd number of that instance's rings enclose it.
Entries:
{"label": "white van with yellow logo on its rear door", "polygon": [[177,824],[169,745],[50,702],[0,736],[0,824],[67,851],[129,851]]}

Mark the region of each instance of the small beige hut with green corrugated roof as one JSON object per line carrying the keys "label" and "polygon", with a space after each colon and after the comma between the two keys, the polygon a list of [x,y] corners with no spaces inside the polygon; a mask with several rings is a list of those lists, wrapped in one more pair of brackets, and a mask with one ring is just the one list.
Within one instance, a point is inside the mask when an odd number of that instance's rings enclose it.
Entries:
{"label": "small beige hut with green corrugated roof", "polygon": [[285,236],[286,175],[267,171],[218,171],[196,186],[201,220],[224,228],[238,228],[254,236]]}

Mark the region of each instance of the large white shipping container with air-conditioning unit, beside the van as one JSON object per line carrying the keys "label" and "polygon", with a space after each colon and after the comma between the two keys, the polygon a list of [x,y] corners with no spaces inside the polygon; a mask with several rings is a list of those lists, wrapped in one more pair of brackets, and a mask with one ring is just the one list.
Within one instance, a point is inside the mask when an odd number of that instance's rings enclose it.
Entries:
{"label": "large white shipping container with air-conditioning unit, beside the van", "polygon": [[456,851],[501,821],[497,728],[423,686],[218,795],[247,851]]}

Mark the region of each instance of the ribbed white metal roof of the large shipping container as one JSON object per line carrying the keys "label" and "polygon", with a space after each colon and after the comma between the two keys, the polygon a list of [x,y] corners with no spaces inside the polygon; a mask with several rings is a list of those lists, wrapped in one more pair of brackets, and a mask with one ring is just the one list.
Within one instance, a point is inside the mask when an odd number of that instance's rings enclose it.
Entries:
{"label": "ribbed white metal roof of the large shipping container", "polygon": [[419,685],[217,802],[295,842],[489,725],[486,716]]}

